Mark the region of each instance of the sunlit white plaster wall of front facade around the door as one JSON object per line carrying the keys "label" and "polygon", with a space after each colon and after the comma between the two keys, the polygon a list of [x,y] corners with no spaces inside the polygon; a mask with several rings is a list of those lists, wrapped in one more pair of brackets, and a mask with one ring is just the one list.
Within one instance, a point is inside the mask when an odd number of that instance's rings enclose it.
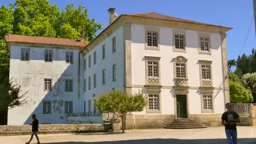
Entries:
{"label": "sunlit white plaster wall of front facade around the door", "polygon": [[[146,71],[144,56],[161,57],[160,74],[162,86],[174,86],[173,58],[184,56],[188,59],[187,74],[188,86],[200,87],[200,68],[199,60],[212,61],[213,87],[223,88],[223,65],[220,34],[211,34],[211,55],[199,54],[198,33],[184,29],[173,29],[159,27],[159,50],[145,49],[145,28],[143,25],[131,26],[132,38],[132,85],[143,86],[146,84]],[[173,30],[186,32],[187,52],[173,52]],[[200,32],[202,33],[202,32]],[[173,91],[161,89],[162,114],[174,114]],[[190,114],[201,113],[201,93],[200,89],[189,89],[189,108]],[[214,113],[224,112],[224,93],[214,91]],[[171,105],[170,105],[171,104]],[[171,106],[171,108],[170,108]],[[143,112],[142,112],[143,113]]]}

